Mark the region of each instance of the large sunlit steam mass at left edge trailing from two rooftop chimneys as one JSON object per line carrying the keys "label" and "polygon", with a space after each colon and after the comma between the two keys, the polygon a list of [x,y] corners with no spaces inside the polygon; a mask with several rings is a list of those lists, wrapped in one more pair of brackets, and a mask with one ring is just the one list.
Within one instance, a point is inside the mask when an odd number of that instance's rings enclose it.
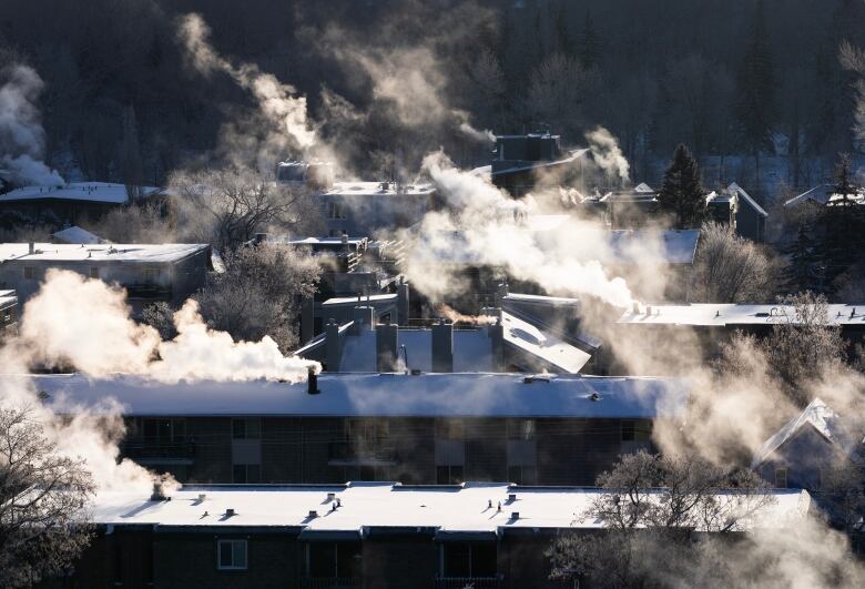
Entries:
{"label": "large sunlit steam mass at left edge trailing from two rooftop chimneys", "polygon": [[136,374],[163,383],[179,380],[301,380],[317,363],[284,357],[269,337],[234,342],[210,329],[189,301],[174,316],[179,335],[161,341],[156,331],[130,318],[125,293],[96,280],[51,270],[24,306],[20,334],[0,348],[0,405],[30,406],[61,451],[86,460],[101,489],[146,492],[156,475],[130,461],[118,463],[124,434],[121,407],[67,406],[57,415],[39,402],[27,373],[38,364],[71,366],[88,376]]}

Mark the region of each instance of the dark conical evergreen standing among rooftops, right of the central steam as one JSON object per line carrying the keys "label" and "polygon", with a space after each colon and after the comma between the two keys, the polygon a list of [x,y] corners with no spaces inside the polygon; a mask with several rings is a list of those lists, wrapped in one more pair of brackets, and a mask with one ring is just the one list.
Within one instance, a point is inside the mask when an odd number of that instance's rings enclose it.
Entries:
{"label": "dark conical evergreen standing among rooftops, right of the central steam", "polygon": [[700,165],[682,143],[675,148],[673,161],[664,173],[658,202],[662,210],[675,216],[675,229],[699,227],[703,223],[706,205]]}

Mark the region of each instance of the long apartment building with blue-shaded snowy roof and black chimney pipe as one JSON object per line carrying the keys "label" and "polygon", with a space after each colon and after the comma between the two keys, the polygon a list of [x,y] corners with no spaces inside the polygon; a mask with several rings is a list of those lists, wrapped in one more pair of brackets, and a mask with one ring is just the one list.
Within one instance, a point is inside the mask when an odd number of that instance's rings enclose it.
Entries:
{"label": "long apartment building with blue-shaded snowy roof and black chimney pipe", "polygon": [[325,373],[303,383],[33,376],[45,403],[123,407],[123,456],[194,483],[591,485],[682,418],[685,383]]}

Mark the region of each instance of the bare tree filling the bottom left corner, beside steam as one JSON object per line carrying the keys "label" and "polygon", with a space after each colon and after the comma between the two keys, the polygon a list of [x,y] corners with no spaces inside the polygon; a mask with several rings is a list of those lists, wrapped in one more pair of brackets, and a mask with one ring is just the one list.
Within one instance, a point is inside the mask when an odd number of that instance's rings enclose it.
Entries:
{"label": "bare tree filling the bottom left corner, beside steam", "polygon": [[90,542],[93,494],[81,460],[59,456],[30,408],[0,408],[0,586],[29,587]]}

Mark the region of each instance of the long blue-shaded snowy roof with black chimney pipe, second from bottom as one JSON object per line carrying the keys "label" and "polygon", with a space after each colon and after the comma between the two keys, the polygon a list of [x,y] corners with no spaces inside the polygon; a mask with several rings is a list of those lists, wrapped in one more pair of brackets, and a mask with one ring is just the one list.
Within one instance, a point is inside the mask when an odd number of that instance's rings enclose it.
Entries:
{"label": "long blue-shaded snowy roof with black chimney pipe, second from bottom", "polygon": [[323,373],[318,395],[308,394],[306,382],[165,384],[135,376],[95,379],[77,374],[30,378],[61,413],[80,406],[109,410],[102,402],[113,397],[132,416],[652,419],[680,417],[688,402],[688,385],[681,379],[566,374],[532,378],[488,373]]}

